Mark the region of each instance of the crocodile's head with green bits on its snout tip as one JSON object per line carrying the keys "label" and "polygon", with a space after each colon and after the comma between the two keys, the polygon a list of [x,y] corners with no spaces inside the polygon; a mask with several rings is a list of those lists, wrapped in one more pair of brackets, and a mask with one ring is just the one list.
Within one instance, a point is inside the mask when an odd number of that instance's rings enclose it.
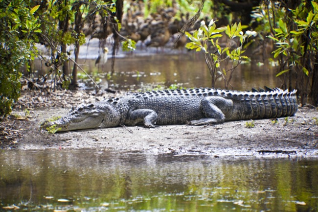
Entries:
{"label": "crocodile's head with green bits on its snout tip", "polygon": [[114,107],[110,104],[88,104],[72,108],[68,114],[54,121],[45,121],[41,128],[48,132],[63,132],[71,130],[112,127],[119,123]]}

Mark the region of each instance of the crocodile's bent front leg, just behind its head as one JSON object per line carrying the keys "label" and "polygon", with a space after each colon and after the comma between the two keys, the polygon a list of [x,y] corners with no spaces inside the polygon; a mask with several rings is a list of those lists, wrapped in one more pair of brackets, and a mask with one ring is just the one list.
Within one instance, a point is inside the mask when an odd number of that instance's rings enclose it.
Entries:
{"label": "crocodile's bent front leg, just behind its head", "polygon": [[125,124],[126,125],[136,125],[142,123],[145,127],[155,128],[157,113],[149,109],[137,109],[128,113]]}

